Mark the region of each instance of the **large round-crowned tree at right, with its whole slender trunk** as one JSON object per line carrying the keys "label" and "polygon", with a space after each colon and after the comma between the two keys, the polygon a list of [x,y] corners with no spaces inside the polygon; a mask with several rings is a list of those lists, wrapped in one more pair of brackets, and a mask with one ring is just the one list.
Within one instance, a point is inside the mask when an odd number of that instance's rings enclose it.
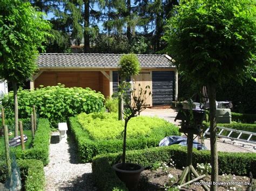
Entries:
{"label": "large round-crowned tree at right, with its whole slender trunk", "polygon": [[[166,51],[191,83],[207,86],[210,101],[211,181],[218,181],[216,89],[241,79],[255,60],[253,0],[181,0],[168,20]],[[211,190],[217,190],[212,185]]]}

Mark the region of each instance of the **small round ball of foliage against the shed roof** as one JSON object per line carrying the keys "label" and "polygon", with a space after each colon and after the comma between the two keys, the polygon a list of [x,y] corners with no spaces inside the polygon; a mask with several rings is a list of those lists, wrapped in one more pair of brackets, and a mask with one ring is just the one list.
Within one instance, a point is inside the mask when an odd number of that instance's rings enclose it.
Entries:
{"label": "small round ball of foliage against the shed roof", "polygon": [[136,54],[125,54],[120,58],[118,66],[120,76],[126,78],[137,75],[140,71],[140,63]]}

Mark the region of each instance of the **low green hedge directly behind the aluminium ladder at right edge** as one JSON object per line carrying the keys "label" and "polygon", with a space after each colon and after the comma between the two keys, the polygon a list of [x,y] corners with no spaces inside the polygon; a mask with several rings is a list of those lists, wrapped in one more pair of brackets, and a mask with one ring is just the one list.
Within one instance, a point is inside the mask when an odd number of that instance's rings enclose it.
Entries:
{"label": "low green hedge directly behind the aluminium ladder at right edge", "polygon": [[[210,123],[204,123],[205,129],[210,126]],[[241,131],[248,131],[248,132],[256,132],[256,124],[247,124],[247,123],[218,123],[217,126]],[[221,135],[227,136],[230,131],[223,131]],[[237,138],[239,133],[232,132],[231,137]],[[242,134],[241,139],[247,139],[249,135]],[[256,137],[253,136],[250,140],[256,140]]]}

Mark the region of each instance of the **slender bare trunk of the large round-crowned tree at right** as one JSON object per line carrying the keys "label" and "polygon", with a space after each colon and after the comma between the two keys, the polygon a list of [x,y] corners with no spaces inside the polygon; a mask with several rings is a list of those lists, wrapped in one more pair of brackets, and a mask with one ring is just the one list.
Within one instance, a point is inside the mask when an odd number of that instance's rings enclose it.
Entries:
{"label": "slender bare trunk of the large round-crowned tree at right", "polygon": [[[210,142],[211,142],[211,181],[218,181],[218,151],[217,151],[217,123],[216,123],[216,86],[215,84],[209,84],[208,96],[210,105]],[[217,185],[211,185],[211,191],[217,191]]]}

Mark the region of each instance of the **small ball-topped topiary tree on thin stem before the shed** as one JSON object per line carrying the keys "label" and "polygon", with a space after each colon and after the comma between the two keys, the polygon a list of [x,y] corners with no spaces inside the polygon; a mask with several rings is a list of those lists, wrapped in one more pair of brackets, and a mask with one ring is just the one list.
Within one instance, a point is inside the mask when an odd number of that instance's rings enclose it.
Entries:
{"label": "small ball-topped topiary tree on thin stem before the shed", "polygon": [[140,71],[140,63],[138,60],[137,55],[135,54],[125,54],[121,56],[118,66],[119,75],[121,77],[121,83],[119,84],[118,89],[118,120],[122,120],[123,113],[124,113],[124,103],[123,103],[123,94],[126,91],[126,78],[130,77],[131,75],[137,75]]}

